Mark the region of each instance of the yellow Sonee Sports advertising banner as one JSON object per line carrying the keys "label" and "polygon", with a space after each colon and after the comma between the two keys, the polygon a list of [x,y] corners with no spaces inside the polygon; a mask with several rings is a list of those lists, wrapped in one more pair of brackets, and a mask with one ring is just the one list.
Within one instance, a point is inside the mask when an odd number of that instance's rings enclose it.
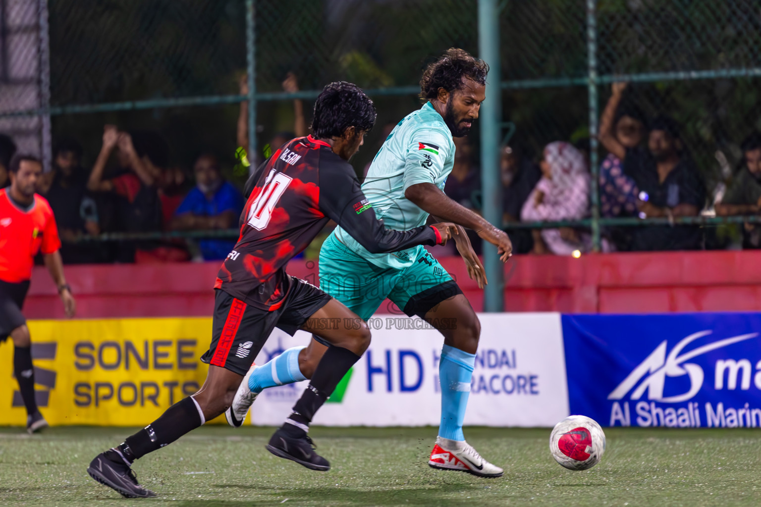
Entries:
{"label": "yellow Sonee Sports advertising banner", "polygon": [[[35,390],[51,425],[140,426],[203,384],[211,318],[30,321]],[[0,425],[25,425],[13,343],[0,345]]]}

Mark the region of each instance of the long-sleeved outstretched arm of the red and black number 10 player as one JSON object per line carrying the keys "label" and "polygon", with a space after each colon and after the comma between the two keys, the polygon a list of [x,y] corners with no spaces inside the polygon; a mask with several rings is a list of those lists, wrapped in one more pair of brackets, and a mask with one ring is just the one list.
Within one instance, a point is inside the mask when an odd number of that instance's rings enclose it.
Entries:
{"label": "long-sleeved outstretched arm of the red and black number 10 player", "polygon": [[320,210],[371,253],[443,245],[452,234],[457,234],[454,223],[410,230],[386,229],[383,220],[375,217],[349,163],[320,163]]}

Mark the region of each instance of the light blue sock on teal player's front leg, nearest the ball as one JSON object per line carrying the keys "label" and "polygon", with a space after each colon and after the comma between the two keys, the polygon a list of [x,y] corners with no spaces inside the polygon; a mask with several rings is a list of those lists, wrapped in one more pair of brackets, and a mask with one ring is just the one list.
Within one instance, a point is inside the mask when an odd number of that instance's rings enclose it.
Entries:
{"label": "light blue sock on teal player's front leg, nearest the ball", "polygon": [[441,384],[441,425],[438,436],[443,439],[464,440],[463,420],[470,395],[470,379],[476,354],[444,345],[438,362],[438,382]]}

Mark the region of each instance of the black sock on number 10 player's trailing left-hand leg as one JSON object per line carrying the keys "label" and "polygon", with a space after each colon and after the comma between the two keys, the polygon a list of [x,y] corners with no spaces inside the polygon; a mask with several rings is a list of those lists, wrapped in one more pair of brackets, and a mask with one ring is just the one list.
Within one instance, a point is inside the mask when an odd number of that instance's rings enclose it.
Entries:
{"label": "black sock on number 10 player's trailing left-hand leg", "polygon": [[[115,450],[118,450],[126,461],[132,463],[137,458],[147,455],[148,452],[154,452],[164,445],[169,445],[205,422],[196,401],[187,397],[167,408],[161,417],[138,433],[128,436]],[[113,455],[109,457],[114,458]]]}

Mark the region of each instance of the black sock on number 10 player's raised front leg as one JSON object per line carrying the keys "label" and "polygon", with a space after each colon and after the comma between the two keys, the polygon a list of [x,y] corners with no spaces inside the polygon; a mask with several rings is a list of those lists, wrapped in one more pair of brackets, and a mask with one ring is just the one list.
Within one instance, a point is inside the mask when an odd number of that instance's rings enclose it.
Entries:
{"label": "black sock on number 10 player's raised front leg", "polygon": [[307,390],[293,406],[293,413],[286,419],[287,423],[283,425],[283,429],[290,433],[306,432],[314,414],[336,390],[336,385],[341,382],[343,375],[346,375],[358,360],[359,356],[349,349],[329,347],[317,364]]}

